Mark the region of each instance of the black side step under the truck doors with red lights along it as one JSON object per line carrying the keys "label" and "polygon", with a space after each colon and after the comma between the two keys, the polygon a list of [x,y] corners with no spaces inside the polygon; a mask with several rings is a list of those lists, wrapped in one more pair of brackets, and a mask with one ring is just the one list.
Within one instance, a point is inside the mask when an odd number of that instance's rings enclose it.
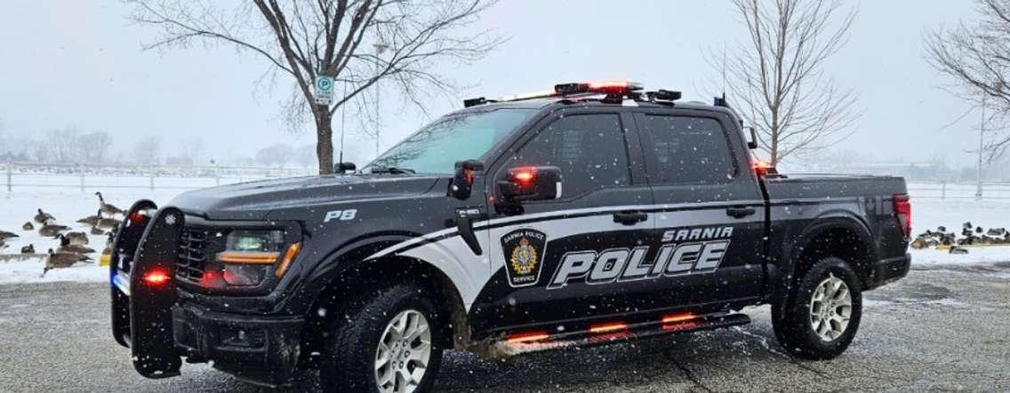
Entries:
{"label": "black side step under the truck doors with red lights along it", "polygon": [[750,323],[743,313],[711,313],[696,315],[690,312],[664,315],[662,318],[624,323],[613,321],[591,324],[576,332],[550,334],[546,331],[516,333],[493,345],[496,355],[518,355],[528,352],[549,351],[573,347],[593,347],[611,343],[654,339],[680,333],[707,331]]}

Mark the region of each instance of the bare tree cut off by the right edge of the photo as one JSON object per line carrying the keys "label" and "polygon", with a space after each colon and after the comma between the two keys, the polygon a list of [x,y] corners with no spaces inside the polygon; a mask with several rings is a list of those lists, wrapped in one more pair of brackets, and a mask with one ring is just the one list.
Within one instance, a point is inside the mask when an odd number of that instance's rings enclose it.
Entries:
{"label": "bare tree cut off by the right edge of the photo", "polygon": [[[984,107],[986,130],[1010,120],[1010,0],[976,0],[979,19],[926,35],[930,63],[950,77],[947,90]],[[988,126],[995,123],[994,126]],[[983,151],[992,162],[1010,147],[1010,135],[992,133]]]}

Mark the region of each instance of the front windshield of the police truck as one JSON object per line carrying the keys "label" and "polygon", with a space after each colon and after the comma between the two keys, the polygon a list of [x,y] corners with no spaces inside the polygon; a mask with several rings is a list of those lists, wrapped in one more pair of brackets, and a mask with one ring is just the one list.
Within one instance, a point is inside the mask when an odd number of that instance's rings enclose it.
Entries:
{"label": "front windshield of the police truck", "polygon": [[393,146],[362,171],[451,174],[456,161],[480,158],[534,113],[510,108],[441,118]]}

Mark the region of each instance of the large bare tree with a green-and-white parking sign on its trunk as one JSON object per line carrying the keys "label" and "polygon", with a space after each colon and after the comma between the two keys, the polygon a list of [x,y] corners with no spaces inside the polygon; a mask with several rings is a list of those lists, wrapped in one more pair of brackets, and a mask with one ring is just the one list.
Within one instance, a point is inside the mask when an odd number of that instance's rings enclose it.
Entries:
{"label": "large bare tree with a green-and-white parking sign on its trunk", "polygon": [[[224,43],[268,60],[273,75],[290,77],[294,95],[286,118],[310,116],[316,129],[319,173],[333,170],[333,113],[380,80],[395,85],[407,100],[424,108],[431,93],[456,89],[438,61],[482,58],[501,40],[488,31],[463,32],[495,0],[254,0],[230,10],[216,1],[135,0],[132,19],[157,27],[160,38],[144,45],[187,46],[195,41]],[[374,45],[385,45],[377,55]],[[316,105],[317,76],[333,77],[332,105]]]}

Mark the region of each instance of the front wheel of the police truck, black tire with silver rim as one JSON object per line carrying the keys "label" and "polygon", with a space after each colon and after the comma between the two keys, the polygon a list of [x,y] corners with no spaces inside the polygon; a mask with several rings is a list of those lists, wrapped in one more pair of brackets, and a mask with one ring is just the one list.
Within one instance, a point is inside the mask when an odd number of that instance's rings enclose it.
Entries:
{"label": "front wheel of the police truck, black tire with silver rim", "polygon": [[[339,310],[340,317],[335,318],[329,326],[329,337],[326,340],[319,369],[319,380],[323,390],[327,392],[430,391],[438,374],[438,367],[441,365],[442,323],[437,307],[431,296],[426,293],[421,285],[402,283],[380,290],[377,294],[346,301],[343,309]],[[426,322],[427,336],[423,333],[414,339],[398,336],[399,331],[395,326],[400,326],[406,335],[410,333],[408,328],[415,321],[418,326],[421,325],[421,321]],[[422,344],[425,338],[428,339],[429,357],[426,362],[420,362],[419,358],[423,358]],[[379,369],[381,339],[388,342],[386,348],[389,351],[384,351],[387,362],[384,368]],[[404,345],[408,341],[410,343]],[[413,356],[411,356],[412,350]],[[390,360],[391,358],[393,360]],[[424,367],[419,368],[422,363]],[[406,369],[401,369],[397,367],[398,365],[404,365]],[[419,369],[423,370],[419,381],[416,381],[416,372]],[[380,386],[380,371],[384,376],[392,377],[391,385]],[[383,379],[389,381],[387,378]],[[407,379],[414,380],[416,384],[402,383]],[[398,390],[398,387],[401,389]]]}

